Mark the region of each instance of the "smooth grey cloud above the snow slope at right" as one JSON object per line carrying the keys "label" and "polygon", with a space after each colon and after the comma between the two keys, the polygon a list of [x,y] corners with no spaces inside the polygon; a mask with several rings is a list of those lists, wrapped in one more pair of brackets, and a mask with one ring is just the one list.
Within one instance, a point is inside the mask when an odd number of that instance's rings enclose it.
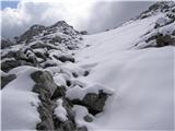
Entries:
{"label": "smooth grey cloud above the snow slope at right", "polygon": [[114,28],[124,22],[139,15],[147,10],[152,1],[113,1],[97,3],[93,9],[90,24],[86,29],[90,33],[97,33]]}

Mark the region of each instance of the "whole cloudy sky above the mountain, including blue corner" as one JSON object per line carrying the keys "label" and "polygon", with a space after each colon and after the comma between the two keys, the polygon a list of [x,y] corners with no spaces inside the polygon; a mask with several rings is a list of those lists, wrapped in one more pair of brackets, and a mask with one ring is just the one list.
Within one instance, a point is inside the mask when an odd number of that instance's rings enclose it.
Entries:
{"label": "whole cloudy sky above the mountain, including blue corner", "polygon": [[86,29],[91,34],[97,33],[120,25],[153,3],[151,1],[107,2],[107,0],[43,1],[3,1],[0,11],[2,37],[11,38],[21,35],[33,24],[47,26],[60,20],[65,20],[78,31]]}

